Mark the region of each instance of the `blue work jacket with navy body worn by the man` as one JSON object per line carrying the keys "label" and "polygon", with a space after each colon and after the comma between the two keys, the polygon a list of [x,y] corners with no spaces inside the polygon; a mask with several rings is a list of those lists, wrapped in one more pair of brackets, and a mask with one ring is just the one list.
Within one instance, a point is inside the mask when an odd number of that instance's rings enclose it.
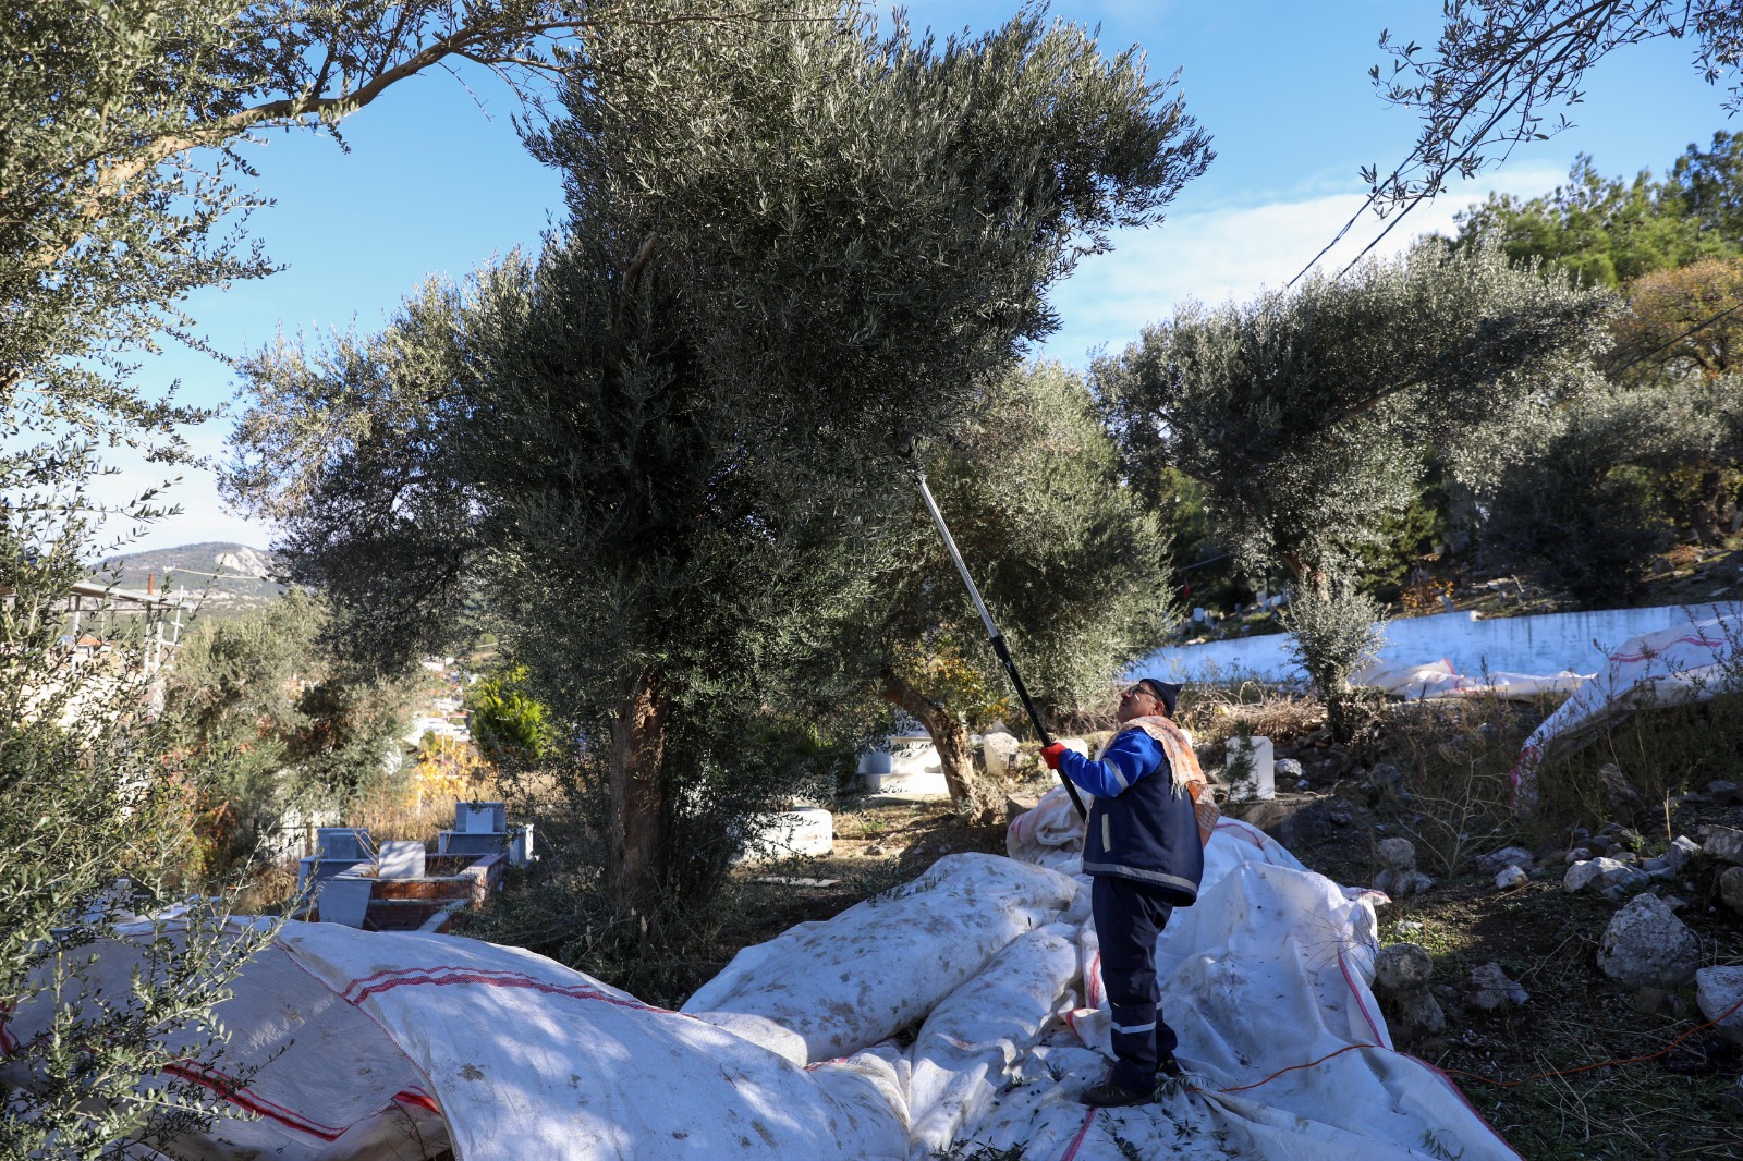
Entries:
{"label": "blue work jacket with navy body worn by the man", "polygon": [[1192,795],[1175,790],[1161,743],[1142,729],[1114,737],[1102,760],[1067,750],[1060,772],[1091,795],[1084,873],[1116,875],[1190,906],[1204,879]]}

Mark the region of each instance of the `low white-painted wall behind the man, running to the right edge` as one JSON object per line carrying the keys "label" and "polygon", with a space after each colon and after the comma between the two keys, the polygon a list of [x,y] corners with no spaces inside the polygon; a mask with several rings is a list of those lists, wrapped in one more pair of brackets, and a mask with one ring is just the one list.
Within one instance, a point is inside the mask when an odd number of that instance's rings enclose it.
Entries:
{"label": "low white-painted wall behind the man, running to the right edge", "polygon": [[[1743,628],[1743,603],[1670,605],[1661,608],[1611,608],[1602,612],[1539,614],[1536,617],[1485,617],[1436,614],[1386,626],[1382,664],[1452,662],[1462,675],[1536,673],[1562,669],[1595,673],[1607,650],[1631,636],[1689,621],[1726,617]],[[1267,680],[1304,678],[1286,652],[1285,633],[1248,636],[1204,645],[1171,645],[1149,654],[1129,669],[1170,682],[1210,682],[1243,676]]]}

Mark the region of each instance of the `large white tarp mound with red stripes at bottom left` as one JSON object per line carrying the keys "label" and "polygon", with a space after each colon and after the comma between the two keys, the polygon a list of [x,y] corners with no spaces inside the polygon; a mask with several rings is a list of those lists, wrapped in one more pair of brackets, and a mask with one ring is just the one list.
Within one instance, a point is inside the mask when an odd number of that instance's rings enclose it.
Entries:
{"label": "large white tarp mound with red stripes at bottom left", "polygon": [[[124,985],[136,948],[96,950],[99,976]],[[218,1008],[235,1034],[225,1069],[258,1072],[232,1100],[263,1116],[178,1142],[192,1158],[908,1154],[887,1060],[804,1069],[518,948],[293,922],[234,992]],[[35,1034],[42,1008],[21,1006],[7,1030]]]}

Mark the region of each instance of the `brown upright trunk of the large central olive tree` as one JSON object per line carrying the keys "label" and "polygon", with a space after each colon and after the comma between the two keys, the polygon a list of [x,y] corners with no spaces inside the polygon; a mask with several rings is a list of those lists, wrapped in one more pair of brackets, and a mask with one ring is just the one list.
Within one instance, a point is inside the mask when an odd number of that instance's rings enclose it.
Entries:
{"label": "brown upright trunk of the large central olive tree", "polygon": [[626,917],[647,913],[659,886],[666,845],[666,713],[669,704],[652,673],[638,673],[612,718],[612,818],[607,835],[605,894]]}

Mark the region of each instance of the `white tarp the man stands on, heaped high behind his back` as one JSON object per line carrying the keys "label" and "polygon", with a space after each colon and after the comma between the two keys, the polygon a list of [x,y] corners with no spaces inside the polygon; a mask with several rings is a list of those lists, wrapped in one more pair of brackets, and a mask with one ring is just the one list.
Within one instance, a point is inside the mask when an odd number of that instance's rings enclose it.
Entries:
{"label": "white tarp the man stands on, heaped high behind his back", "polygon": [[[1014,845],[1025,849],[1027,833]],[[1020,1081],[964,1128],[966,1140],[1027,1142],[1025,1156],[1074,1161],[1516,1156],[1438,1070],[1391,1048],[1370,992],[1382,898],[1339,887],[1255,826],[1224,819],[1204,849],[1199,901],[1175,910],[1157,941],[1163,1015],[1196,1091],[1098,1114],[1074,1103],[1112,1060],[1086,924],[1088,1006],[1070,1015],[1086,1048],[1027,1053],[1011,1069]]]}

